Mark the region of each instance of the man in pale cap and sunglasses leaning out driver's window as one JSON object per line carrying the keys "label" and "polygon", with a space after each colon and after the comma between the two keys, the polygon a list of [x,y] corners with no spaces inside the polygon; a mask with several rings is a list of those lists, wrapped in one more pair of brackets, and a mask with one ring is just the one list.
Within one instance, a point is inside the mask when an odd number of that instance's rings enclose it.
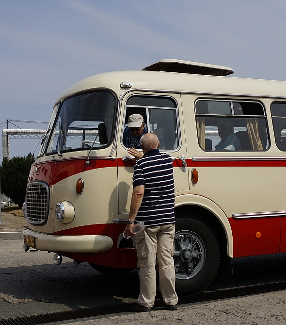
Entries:
{"label": "man in pale cap and sunglasses leaning out driver's window", "polygon": [[123,133],[124,145],[127,148],[141,149],[140,139],[147,133],[143,121],[143,116],[140,114],[132,114],[128,117],[127,128]]}

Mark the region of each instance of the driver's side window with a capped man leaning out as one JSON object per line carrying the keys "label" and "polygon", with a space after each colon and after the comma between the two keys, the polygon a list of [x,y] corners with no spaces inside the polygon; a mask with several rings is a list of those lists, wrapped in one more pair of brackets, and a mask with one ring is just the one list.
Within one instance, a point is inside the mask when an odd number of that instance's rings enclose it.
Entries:
{"label": "driver's side window with a capped man leaning out", "polygon": [[[131,127],[128,127],[129,118],[133,119],[132,123],[129,122]],[[147,132],[157,135],[161,150],[176,150],[179,147],[177,106],[173,98],[133,95],[127,100],[123,145],[141,149],[140,138]]]}

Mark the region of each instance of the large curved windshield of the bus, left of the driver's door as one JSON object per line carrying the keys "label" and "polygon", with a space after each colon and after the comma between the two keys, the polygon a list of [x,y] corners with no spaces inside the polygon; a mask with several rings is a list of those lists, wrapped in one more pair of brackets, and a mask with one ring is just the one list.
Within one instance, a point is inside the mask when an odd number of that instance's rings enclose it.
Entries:
{"label": "large curved windshield of the bus, left of the driver's door", "polygon": [[[108,146],[114,129],[115,97],[106,90],[80,94],[65,100],[54,123],[46,153],[100,149]],[[100,130],[106,130],[104,140]],[[105,132],[105,131],[104,131]]]}

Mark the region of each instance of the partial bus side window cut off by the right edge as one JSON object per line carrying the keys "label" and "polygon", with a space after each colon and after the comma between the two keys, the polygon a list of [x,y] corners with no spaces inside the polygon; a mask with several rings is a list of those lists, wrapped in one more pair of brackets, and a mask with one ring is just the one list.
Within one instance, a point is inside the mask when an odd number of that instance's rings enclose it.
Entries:
{"label": "partial bus side window cut off by the right edge", "polygon": [[272,103],[271,116],[276,145],[286,151],[286,103]]}

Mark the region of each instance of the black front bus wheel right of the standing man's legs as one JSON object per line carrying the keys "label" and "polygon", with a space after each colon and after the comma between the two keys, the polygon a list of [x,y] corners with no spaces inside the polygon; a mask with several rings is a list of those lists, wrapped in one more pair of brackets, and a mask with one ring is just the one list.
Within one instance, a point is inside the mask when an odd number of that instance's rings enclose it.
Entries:
{"label": "black front bus wheel right of the standing man's legs", "polygon": [[175,288],[188,294],[206,289],[220,265],[216,232],[202,217],[193,216],[176,219],[175,223]]}

